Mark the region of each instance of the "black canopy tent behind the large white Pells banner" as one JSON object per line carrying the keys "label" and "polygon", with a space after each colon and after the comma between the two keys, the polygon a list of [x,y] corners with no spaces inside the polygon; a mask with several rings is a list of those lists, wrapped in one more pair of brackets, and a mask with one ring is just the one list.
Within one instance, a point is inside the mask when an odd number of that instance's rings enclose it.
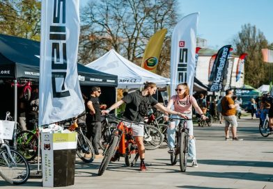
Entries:
{"label": "black canopy tent behind the large white Pells banner", "polygon": [[[81,88],[86,90],[87,86],[98,85],[105,87],[105,94],[116,94],[116,86],[118,85],[118,76],[99,72],[95,69],[85,67],[84,65],[77,65],[79,74],[79,83]],[[0,34],[0,83],[10,80],[15,83],[14,101],[7,101],[10,99],[10,83],[3,87],[7,93],[5,97],[2,96],[3,103],[1,111],[10,110],[13,105],[14,117],[17,118],[17,81],[29,80],[38,83],[40,70],[40,42],[27,40],[24,38],[17,38],[10,35]],[[111,87],[111,88],[109,88]],[[11,89],[11,88],[10,88]],[[86,90],[87,91],[87,90]],[[103,96],[103,95],[102,95]],[[107,101],[116,101],[115,95],[111,97],[104,97]],[[13,110],[11,110],[13,112]],[[3,112],[1,113],[3,117]]]}

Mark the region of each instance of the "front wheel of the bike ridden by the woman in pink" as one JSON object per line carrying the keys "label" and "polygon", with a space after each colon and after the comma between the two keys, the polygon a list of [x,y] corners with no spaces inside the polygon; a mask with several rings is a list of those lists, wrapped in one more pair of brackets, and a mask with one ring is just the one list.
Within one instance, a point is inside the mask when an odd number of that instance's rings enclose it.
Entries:
{"label": "front wheel of the bike ridden by the woman in pink", "polygon": [[179,151],[179,163],[180,163],[181,172],[186,172],[187,170],[187,153],[188,153],[187,138],[188,138],[187,133],[182,132],[180,135],[180,151]]}

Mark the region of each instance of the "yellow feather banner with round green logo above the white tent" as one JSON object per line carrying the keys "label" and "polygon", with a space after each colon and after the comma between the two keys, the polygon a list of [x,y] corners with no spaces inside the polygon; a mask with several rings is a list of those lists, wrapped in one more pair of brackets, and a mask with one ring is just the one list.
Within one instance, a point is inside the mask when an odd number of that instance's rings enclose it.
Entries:
{"label": "yellow feather banner with round green logo above the white tent", "polygon": [[157,31],[157,33],[150,38],[144,51],[141,67],[149,70],[150,72],[156,73],[158,60],[166,33],[167,29],[163,28],[162,30]]}

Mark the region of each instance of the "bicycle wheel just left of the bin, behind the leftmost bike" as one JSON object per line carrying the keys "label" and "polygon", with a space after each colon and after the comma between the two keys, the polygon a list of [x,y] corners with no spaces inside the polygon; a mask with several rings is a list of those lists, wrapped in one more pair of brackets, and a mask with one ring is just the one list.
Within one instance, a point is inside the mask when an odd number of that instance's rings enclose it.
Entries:
{"label": "bicycle wheel just left of the bin, behind the leftmost bike", "polygon": [[38,156],[38,137],[31,131],[21,131],[16,135],[17,151],[26,158],[27,161],[32,161]]}

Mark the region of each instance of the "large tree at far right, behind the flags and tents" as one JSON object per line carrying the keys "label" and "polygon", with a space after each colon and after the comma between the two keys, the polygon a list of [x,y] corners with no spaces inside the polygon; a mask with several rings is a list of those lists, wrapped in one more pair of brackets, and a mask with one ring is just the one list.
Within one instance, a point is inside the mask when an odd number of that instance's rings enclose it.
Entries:
{"label": "large tree at far right, behind the flags and tents", "polygon": [[261,49],[268,47],[268,42],[260,30],[251,24],[244,24],[242,30],[233,39],[237,55],[247,53],[244,64],[244,83],[258,88],[263,83],[268,83],[268,63],[263,62]]}

